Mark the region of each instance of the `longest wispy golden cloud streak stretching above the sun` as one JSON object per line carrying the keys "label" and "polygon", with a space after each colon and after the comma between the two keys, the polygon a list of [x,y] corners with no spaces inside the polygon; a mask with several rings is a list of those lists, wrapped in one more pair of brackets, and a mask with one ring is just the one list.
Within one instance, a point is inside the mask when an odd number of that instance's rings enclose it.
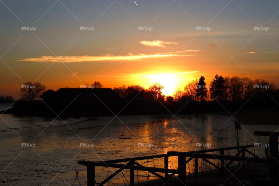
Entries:
{"label": "longest wispy golden cloud streak stretching above the sun", "polygon": [[193,54],[186,54],[189,52],[197,52],[199,50],[185,50],[185,51],[176,51],[176,52],[167,52],[167,53],[154,53],[154,54],[133,54],[128,53],[126,56],[113,56],[111,54],[106,54],[103,56],[40,56],[37,58],[26,58],[17,61],[31,61],[31,62],[97,62],[97,61],[136,61],[147,58],[168,58],[174,56],[196,56]]}

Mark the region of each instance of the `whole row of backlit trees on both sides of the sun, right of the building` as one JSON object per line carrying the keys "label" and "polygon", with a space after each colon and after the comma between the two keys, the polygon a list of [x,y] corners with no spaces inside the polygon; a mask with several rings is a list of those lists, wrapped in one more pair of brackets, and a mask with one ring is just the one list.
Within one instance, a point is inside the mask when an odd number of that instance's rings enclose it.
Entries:
{"label": "whole row of backlit trees on both sides of the sun, right of the building", "polygon": [[[139,85],[126,87],[115,87],[113,90],[122,98],[141,99],[141,100],[168,100],[168,96],[162,92],[160,83],[154,83],[149,88],[144,89]],[[264,94],[277,91],[273,83],[265,80],[251,80],[248,77],[238,76],[219,76],[216,74],[213,80],[207,85],[205,77],[201,76],[187,83],[183,90],[178,89],[174,92],[173,101],[239,101],[249,99],[253,94],[263,96]]]}

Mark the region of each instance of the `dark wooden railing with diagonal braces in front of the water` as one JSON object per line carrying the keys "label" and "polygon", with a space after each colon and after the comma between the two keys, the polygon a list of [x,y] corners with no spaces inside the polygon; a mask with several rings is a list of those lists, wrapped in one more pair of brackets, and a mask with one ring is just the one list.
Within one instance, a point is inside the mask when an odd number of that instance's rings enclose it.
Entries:
{"label": "dark wooden railing with diagonal braces in front of the water", "polygon": [[[186,181],[186,165],[194,159],[194,176],[198,176],[198,158],[208,162],[210,165],[215,167],[217,170],[221,172],[226,172],[228,167],[232,164],[233,161],[242,162],[243,168],[245,168],[245,162],[256,162],[256,163],[269,163],[268,159],[268,148],[265,149],[266,158],[259,158],[257,155],[252,153],[248,150],[248,148],[252,148],[254,145],[246,145],[246,146],[239,146],[239,147],[227,147],[227,148],[219,148],[219,149],[208,149],[208,150],[201,150],[201,151],[190,151],[190,152],[177,152],[177,151],[169,151],[167,154],[160,154],[160,155],[150,155],[150,156],[142,156],[142,157],[135,157],[135,158],[125,158],[125,159],[118,159],[118,160],[107,160],[107,161],[78,161],[78,164],[83,164],[87,166],[87,185],[93,186],[95,184],[95,167],[111,167],[111,168],[118,168],[113,174],[108,176],[105,180],[98,184],[98,186],[104,185],[114,176],[119,174],[124,169],[130,170],[130,186],[134,185],[134,171],[147,171],[158,178],[161,178],[163,181],[167,182],[170,180],[171,177],[178,174],[178,178],[182,181]],[[224,151],[237,149],[238,152],[235,155],[224,155]],[[219,154],[213,154],[212,152],[219,152]],[[245,156],[245,152],[250,154],[249,157]],[[241,156],[240,156],[241,154]],[[177,156],[178,157],[178,169],[169,169],[169,157]],[[253,156],[253,157],[251,157]],[[156,159],[156,158],[164,158],[164,168],[155,168],[155,167],[146,167],[141,165],[140,163],[136,162],[138,160],[148,160],[148,159]],[[186,160],[186,158],[188,158]],[[215,159],[220,160],[221,167],[219,164],[214,164],[208,159]],[[229,162],[225,164],[225,160]],[[126,164],[120,164],[120,163]],[[158,174],[164,173],[164,176]]]}

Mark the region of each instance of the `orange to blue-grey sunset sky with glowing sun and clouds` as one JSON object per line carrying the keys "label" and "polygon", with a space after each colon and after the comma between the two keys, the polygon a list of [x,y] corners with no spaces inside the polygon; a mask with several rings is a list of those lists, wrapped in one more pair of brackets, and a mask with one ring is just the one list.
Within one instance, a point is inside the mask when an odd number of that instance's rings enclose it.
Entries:
{"label": "orange to blue-grey sunset sky with glowing sun and clouds", "polygon": [[0,95],[16,99],[27,81],[52,90],[158,82],[171,95],[216,73],[279,86],[279,1],[135,2],[1,0]]}

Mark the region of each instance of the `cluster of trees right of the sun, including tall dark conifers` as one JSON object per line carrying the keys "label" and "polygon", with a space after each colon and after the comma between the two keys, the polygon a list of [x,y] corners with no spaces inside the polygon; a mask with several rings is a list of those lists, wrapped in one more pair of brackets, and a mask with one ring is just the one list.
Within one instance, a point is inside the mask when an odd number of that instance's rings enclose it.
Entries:
{"label": "cluster of trees right of the sun, including tall dark conifers", "polygon": [[238,76],[219,76],[216,74],[213,80],[206,85],[204,76],[199,80],[193,80],[187,83],[184,90],[178,90],[174,93],[174,99],[179,101],[185,97],[187,100],[194,101],[239,101],[249,99],[253,94],[262,96],[268,92],[274,92],[277,88],[273,83],[265,80],[251,80],[248,77]]}

